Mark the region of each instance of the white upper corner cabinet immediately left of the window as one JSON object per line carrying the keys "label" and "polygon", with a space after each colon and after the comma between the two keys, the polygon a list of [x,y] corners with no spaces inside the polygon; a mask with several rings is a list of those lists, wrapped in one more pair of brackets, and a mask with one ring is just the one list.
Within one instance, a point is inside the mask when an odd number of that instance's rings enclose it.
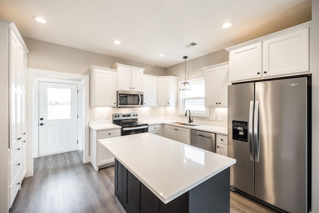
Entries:
{"label": "white upper corner cabinet immediately left of the window", "polygon": [[158,106],[177,105],[177,77],[158,76]]}

